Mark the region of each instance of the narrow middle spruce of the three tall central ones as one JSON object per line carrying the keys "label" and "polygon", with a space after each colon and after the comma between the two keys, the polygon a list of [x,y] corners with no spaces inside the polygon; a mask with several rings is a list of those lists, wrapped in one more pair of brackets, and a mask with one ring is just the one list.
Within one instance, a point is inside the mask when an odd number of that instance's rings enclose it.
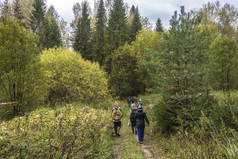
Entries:
{"label": "narrow middle spruce of the three tall central ones", "polygon": [[93,60],[103,64],[105,56],[106,9],[104,1],[100,0],[96,15],[96,29],[93,36]]}

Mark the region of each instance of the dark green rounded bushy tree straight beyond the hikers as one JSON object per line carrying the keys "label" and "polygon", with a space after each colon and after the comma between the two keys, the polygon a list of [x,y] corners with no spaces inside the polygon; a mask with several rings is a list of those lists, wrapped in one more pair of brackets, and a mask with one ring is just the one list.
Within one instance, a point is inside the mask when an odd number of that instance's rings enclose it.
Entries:
{"label": "dark green rounded bushy tree straight beyond the hikers", "polygon": [[139,85],[137,83],[139,74],[135,72],[137,63],[136,54],[131,51],[131,47],[128,44],[119,47],[114,52],[110,78],[110,85],[114,95],[126,97],[138,94],[135,89]]}

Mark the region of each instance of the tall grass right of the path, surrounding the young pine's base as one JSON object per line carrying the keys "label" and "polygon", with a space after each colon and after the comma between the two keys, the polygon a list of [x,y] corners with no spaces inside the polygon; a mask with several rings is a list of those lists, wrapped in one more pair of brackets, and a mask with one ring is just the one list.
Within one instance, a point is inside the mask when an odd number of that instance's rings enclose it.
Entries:
{"label": "tall grass right of the path, surrounding the young pine's base", "polygon": [[[153,107],[160,95],[143,96],[147,105],[143,107],[151,120],[152,130],[147,132],[156,141],[151,147],[160,158],[216,159],[238,158],[238,93],[213,92],[217,104],[211,117],[203,116],[192,131],[178,130],[176,134],[163,134],[154,122]],[[156,102],[154,102],[156,101]],[[161,157],[161,154],[163,156]]]}

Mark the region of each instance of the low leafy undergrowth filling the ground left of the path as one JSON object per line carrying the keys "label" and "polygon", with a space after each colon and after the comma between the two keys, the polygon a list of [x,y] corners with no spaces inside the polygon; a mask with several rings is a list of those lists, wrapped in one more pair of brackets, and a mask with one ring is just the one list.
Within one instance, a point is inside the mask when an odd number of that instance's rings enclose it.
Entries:
{"label": "low leafy undergrowth filling the ground left of the path", "polygon": [[107,111],[67,105],[2,122],[0,157],[110,158],[109,117]]}

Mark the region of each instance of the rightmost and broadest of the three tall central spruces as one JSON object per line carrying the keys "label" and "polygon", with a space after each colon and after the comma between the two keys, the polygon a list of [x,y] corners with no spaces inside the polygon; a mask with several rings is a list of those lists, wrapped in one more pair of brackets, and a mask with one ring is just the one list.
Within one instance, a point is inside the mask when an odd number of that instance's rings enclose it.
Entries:
{"label": "rightmost and broadest of the three tall central spruces", "polygon": [[111,56],[114,50],[128,41],[128,26],[124,3],[114,0],[106,29],[106,70],[110,74]]}

